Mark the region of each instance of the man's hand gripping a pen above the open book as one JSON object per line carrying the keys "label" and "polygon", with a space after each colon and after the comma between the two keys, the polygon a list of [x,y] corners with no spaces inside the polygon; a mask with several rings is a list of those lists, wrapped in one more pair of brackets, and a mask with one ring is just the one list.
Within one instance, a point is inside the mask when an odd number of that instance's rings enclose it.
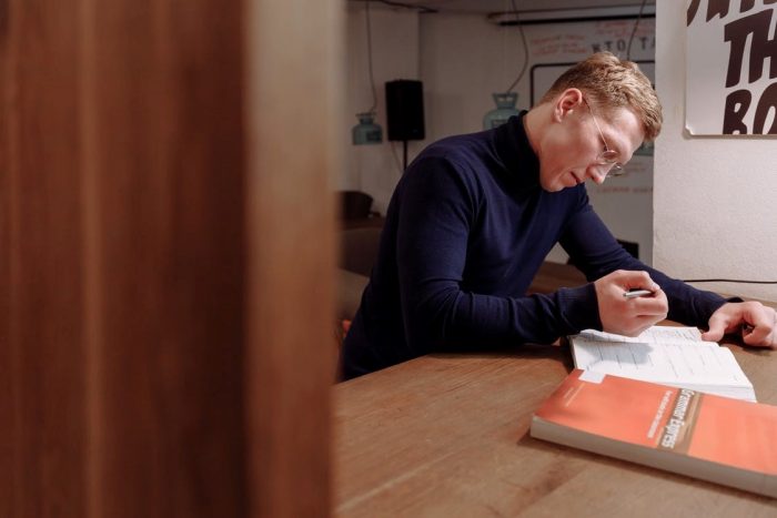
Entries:
{"label": "man's hand gripping a pen above the open book", "polygon": [[[666,318],[669,303],[647,272],[618,270],[594,283],[602,328],[608,333],[637,336]],[[629,290],[649,290],[653,295],[624,297]]]}

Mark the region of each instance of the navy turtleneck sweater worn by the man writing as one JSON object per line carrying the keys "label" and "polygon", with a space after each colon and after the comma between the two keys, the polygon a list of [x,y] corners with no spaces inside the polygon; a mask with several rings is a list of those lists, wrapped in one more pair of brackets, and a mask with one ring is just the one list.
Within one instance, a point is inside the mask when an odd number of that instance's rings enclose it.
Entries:
{"label": "navy turtleneck sweater worn by the man writing", "polygon": [[525,296],[558,242],[588,281],[645,270],[669,318],[705,326],[725,299],[633,258],[583,184],[549,193],[523,116],[426,148],[392,196],[380,252],[342,351],[349,379],[426,353],[553,343],[601,329],[594,285]]}

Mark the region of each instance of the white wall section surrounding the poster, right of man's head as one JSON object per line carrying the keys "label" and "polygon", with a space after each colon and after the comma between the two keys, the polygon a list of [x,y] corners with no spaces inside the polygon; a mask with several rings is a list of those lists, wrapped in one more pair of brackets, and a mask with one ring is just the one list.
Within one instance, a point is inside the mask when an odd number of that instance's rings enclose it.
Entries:
{"label": "white wall section surrounding the poster, right of man's head", "polygon": [[[685,132],[685,2],[657,1],[656,89],[664,129],[655,151],[654,264],[679,278],[774,281],[777,141]],[[777,301],[776,285],[698,286]]]}

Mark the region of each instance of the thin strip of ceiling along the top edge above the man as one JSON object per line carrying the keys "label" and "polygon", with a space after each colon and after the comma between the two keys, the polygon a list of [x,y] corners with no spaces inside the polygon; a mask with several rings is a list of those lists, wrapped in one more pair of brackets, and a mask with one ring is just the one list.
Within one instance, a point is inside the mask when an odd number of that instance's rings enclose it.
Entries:
{"label": "thin strip of ceiling along the top edge above the man", "polygon": [[[363,1],[363,0],[362,0]],[[374,0],[373,0],[374,1]],[[381,0],[377,0],[379,2]],[[613,7],[636,7],[640,0],[512,0],[518,11],[554,11],[567,9],[603,9]],[[646,0],[655,6],[656,0]],[[392,0],[384,3],[407,4],[435,9],[445,12],[492,13],[512,11],[511,0]],[[655,11],[654,11],[655,12]]]}

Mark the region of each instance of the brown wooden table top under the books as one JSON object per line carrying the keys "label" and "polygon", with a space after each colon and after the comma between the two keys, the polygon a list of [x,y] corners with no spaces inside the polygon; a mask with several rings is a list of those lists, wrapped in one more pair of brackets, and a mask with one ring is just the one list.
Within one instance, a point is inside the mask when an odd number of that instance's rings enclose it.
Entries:
{"label": "brown wooden table top under the books", "polygon": [[[777,352],[727,346],[777,405]],[[777,500],[531,438],[571,369],[568,347],[527,345],[337,385],[336,516],[777,516]]]}

